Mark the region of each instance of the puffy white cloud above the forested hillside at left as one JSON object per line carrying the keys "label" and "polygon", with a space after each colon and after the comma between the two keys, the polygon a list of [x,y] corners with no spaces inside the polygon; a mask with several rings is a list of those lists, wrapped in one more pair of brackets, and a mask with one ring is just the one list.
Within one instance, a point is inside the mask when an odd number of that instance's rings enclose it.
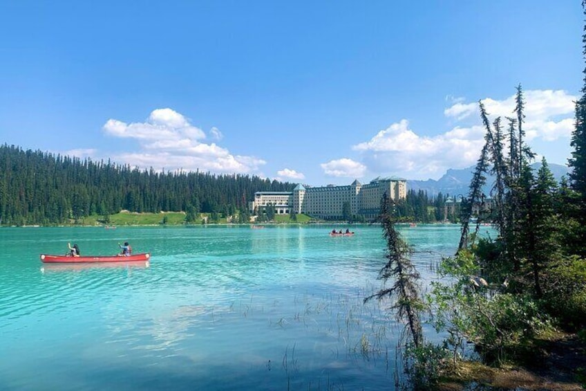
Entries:
{"label": "puffy white cloud above the forested hillside at left", "polygon": [[[103,129],[114,137],[138,140],[140,151],[113,156],[115,161],[133,166],[247,174],[257,172],[266,163],[254,156],[231,154],[216,143],[201,143],[204,132],[172,109],[153,110],[145,122],[127,124],[110,119]],[[210,133],[214,138],[222,138],[215,127]]]}

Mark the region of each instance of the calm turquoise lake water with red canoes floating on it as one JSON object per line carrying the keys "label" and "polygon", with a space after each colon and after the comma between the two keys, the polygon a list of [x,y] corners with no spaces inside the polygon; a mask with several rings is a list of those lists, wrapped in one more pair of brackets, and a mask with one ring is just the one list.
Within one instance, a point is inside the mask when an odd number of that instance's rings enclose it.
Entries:
{"label": "calm turquoise lake water with red canoes floating on it", "polygon": [[[379,226],[0,228],[1,390],[393,389]],[[346,228],[339,227],[336,228]],[[460,227],[399,227],[430,264]],[[148,264],[41,264],[130,242]]]}

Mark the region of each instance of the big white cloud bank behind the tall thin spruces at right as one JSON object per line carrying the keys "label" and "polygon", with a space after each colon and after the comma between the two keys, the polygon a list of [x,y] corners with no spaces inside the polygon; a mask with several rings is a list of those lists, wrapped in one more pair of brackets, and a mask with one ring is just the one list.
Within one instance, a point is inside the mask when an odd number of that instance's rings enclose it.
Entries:
{"label": "big white cloud bank behind the tall thin spruces at right", "polygon": [[[575,100],[576,96],[560,90],[524,91],[526,140],[551,142],[569,138],[574,129]],[[474,165],[484,145],[478,102],[466,103],[451,97],[446,97],[446,101],[453,103],[444,111],[447,118],[455,121],[453,129],[435,136],[422,136],[422,132],[410,129],[408,120],[404,119],[352,149],[361,153],[361,162],[375,175],[428,179],[444,174],[448,168]],[[490,120],[502,117],[503,129],[508,125],[505,117],[516,116],[514,95],[504,100],[485,98],[482,102]],[[466,125],[462,123],[464,120]]]}

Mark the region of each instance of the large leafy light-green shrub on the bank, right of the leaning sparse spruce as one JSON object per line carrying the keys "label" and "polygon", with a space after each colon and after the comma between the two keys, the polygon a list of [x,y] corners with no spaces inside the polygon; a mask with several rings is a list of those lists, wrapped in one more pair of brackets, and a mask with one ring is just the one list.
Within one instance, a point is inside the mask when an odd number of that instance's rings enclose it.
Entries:
{"label": "large leafy light-green shrub on the bank, right of the leaning sparse spruce", "polygon": [[530,295],[471,287],[467,275],[474,265],[468,253],[444,260],[439,269],[451,275],[456,275],[454,271],[462,274],[449,284],[432,282],[428,298],[434,309],[433,325],[448,334],[444,342],[454,360],[469,342],[475,344],[486,363],[500,364],[519,356],[533,336],[551,328],[549,316]]}

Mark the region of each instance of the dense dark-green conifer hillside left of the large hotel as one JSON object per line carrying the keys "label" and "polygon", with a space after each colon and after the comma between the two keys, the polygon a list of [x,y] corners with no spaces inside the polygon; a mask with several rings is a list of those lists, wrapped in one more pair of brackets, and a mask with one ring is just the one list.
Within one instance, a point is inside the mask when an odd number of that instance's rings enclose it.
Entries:
{"label": "dense dark-green conifer hillside left of the large hotel", "polygon": [[0,146],[0,225],[63,224],[88,215],[245,210],[257,191],[292,183],[240,174],[155,172]]}

